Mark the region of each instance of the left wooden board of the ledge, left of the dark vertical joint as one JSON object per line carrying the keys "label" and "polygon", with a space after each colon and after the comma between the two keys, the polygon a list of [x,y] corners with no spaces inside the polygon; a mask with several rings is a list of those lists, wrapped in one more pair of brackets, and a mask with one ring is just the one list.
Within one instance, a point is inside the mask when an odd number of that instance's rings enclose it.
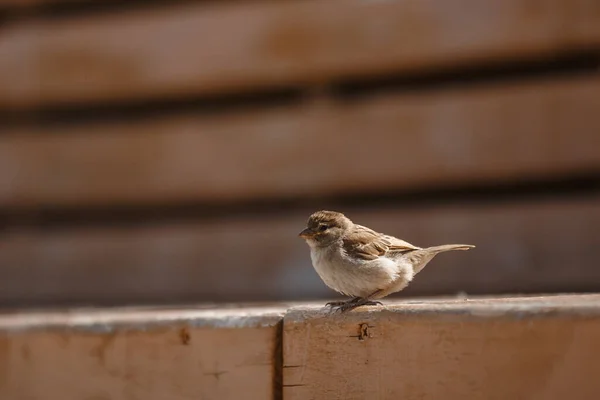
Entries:
{"label": "left wooden board of the ledge, left of the dark vertical joint", "polygon": [[273,399],[283,308],[0,315],[3,399]]}

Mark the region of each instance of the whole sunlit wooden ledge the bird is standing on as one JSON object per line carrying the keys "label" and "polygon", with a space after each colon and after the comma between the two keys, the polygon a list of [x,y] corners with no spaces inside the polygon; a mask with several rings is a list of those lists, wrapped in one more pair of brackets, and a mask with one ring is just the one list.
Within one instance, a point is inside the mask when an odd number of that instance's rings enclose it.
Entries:
{"label": "whole sunlit wooden ledge the bird is standing on", "polygon": [[0,314],[2,399],[597,398],[600,294]]}

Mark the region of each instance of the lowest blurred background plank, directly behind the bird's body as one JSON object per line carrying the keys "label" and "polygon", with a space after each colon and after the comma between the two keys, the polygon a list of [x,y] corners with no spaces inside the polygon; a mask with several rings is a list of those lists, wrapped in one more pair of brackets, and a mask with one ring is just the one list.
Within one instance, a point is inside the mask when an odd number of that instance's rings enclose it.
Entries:
{"label": "lowest blurred background plank, directly behind the bird's body", "polygon": [[[335,297],[296,235],[305,210],[123,228],[5,231],[0,304],[298,300]],[[439,256],[399,296],[600,290],[600,197],[340,210]]]}

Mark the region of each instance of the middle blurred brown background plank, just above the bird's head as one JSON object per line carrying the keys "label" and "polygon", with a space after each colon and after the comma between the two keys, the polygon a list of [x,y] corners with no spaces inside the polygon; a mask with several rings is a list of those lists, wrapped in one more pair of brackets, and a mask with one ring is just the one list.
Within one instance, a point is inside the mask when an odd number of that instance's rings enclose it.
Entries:
{"label": "middle blurred brown background plank, just above the bird's head", "polygon": [[566,177],[600,170],[599,111],[593,75],[16,129],[0,135],[0,206],[243,201]]}

